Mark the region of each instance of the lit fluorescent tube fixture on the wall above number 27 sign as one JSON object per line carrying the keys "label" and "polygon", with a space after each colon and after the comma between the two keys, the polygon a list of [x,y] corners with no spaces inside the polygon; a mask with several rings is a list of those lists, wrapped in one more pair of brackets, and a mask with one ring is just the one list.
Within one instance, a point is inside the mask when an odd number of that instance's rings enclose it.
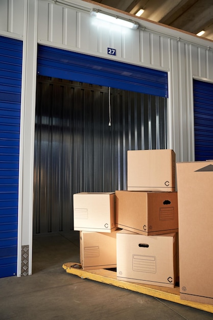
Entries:
{"label": "lit fluorescent tube fixture on the wall above number 27 sign", "polygon": [[117,17],[116,15],[110,15],[108,13],[104,13],[96,9],[92,9],[90,11],[90,15],[102,21],[107,21],[107,22],[110,22],[111,24],[119,25],[122,27],[130,28],[130,29],[138,28],[138,24],[135,21],[125,20],[123,18]]}

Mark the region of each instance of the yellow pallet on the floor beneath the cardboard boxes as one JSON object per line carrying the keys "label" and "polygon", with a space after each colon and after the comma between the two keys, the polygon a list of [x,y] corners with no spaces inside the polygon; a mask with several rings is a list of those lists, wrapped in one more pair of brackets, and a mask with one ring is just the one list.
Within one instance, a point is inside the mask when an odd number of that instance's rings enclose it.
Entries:
{"label": "yellow pallet on the floor beneath the cardboard boxes", "polygon": [[121,280],[117,280],[116,272],[114,271],[107,270],[107,269],[85,271],[82,269],[79,263],[74,263],[74,262],[64,263],[62,267],[66,270],[66,272],[72,273],[72,275],[76,275],[82,279],[89,279],[89,280],[110,284],[116,287],[128,289],[128,290],[139,292],[139,293],[144,293],[147,295],[154,296],[156,298],[168,300],[171,302],[179,303],[181,305],[185,305],[188,307],[193,307],[196,309],[213,313],[213,306],[211,305],[181,300],[179,287],[167,288],[167,287],[159,287],[159,286],[121,281]]}

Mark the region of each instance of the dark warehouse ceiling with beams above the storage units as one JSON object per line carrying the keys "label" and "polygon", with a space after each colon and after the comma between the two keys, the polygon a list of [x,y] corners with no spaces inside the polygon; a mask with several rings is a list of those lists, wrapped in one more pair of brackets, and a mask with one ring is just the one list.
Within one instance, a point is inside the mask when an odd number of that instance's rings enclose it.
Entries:
{"label": "dark warehouse ceiling with beams above the storage units", "polygon": [[213,0],[94,0],[94,2],[135,14],[145,9],[142,18],[213,40]]}

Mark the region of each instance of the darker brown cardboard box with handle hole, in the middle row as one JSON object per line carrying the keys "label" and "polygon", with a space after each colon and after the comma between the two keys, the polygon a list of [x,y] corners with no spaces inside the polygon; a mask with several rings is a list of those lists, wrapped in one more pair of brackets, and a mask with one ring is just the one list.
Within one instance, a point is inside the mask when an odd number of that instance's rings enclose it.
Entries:
{"label": "darker brown cardboard box with handle hole, in the middle row", "polygon": [[178,232],[177,192],[115,191],[115,224],[146,236]]}

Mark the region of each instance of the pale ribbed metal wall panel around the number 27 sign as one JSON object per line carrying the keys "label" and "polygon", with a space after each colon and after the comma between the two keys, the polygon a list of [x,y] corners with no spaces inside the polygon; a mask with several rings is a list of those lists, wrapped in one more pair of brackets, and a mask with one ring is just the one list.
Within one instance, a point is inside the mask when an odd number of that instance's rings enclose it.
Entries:
{"label": "pale ribbed metal wall panel around the number 27 sign", "polygon": [[[80,52],[106,56],[107,48],[116,49],[116,57],[129,63],[170,67],[170,40],[166,36],[143,30],[119,29],[94,25],[89,16],[91,4],[85,10],[38,1],[38,39],[58,48],[66,46]],[[87,8],[86,8],[87,7]],[[152,28],[152,27],[151,27]]]}

